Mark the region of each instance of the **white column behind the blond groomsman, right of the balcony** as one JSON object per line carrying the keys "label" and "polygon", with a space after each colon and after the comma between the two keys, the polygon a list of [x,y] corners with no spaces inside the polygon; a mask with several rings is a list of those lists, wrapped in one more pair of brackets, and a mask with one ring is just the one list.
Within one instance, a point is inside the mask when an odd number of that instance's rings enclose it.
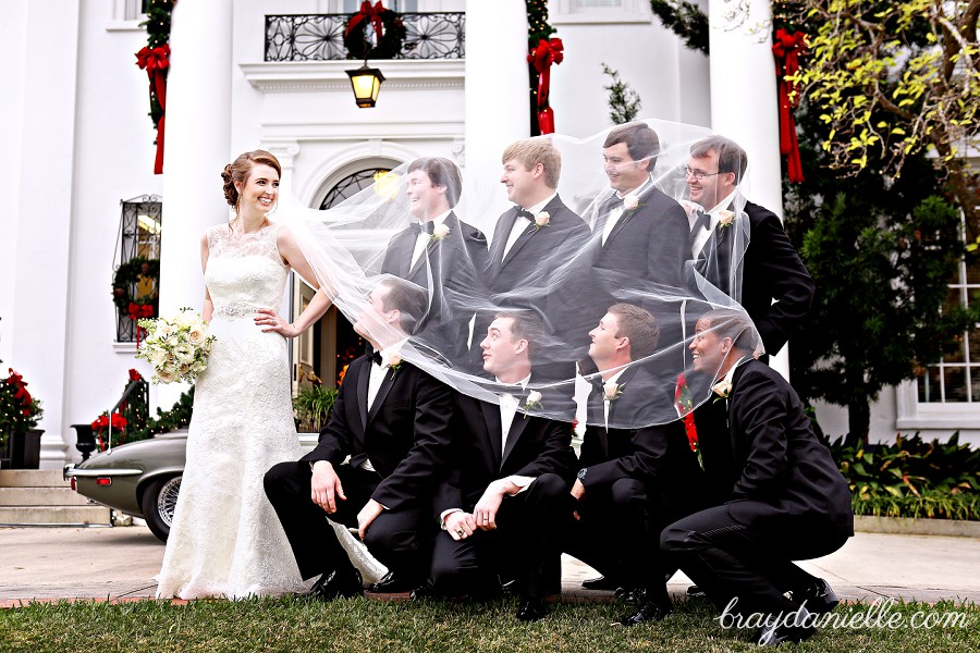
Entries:
{"label": "white column behind the blond groomsman, right of the balcony", "polygon": [[[500,156],[504,148],[530,135],[527,89],[527,7],[524,0],[467,2],[467,180],[486,187],[488,181],[500,177]],[[466,193],[463,197],[465,201]],[[506,196],[501,193],[500,198],[502,207],[506,207]]]}

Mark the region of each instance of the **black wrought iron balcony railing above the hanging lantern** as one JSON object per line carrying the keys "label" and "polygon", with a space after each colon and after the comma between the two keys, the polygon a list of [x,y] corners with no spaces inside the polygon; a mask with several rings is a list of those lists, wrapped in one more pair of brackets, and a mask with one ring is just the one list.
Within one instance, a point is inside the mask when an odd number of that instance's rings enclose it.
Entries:
{"label": "black wrought iron balcony railing above the hanging lantern", "polygon": [[[405,38],[394,59],[463,59],[463,12],[401,14]],[[347,14],[266,16],[266,61],[356,59],[344,47]],[[371,57],[378,59],[377,57]]]}

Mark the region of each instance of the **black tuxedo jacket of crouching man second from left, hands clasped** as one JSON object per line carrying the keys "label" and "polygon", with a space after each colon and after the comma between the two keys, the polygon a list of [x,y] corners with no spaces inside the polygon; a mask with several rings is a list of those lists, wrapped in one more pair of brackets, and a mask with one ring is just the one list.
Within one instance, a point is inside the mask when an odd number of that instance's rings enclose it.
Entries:
{"label": "black tuxedo jacket of crouching man second from left, hands clasped", "polygon": [[[528,387],[528,391],[531,390]],[[520,397],[520,406],[527,391]],[[509,476],[556,473],[574,478],[572,424],[518,411],[501,448],[500,406],[456,395],[451,429],[453,471],[436,496],[434,514],[450,508],[470,512],[492,481]]]}

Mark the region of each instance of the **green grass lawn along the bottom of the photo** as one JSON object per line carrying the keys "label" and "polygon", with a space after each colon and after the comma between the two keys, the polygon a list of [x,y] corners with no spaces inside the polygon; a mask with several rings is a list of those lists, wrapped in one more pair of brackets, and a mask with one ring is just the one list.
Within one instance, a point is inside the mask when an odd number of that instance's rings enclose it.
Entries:
{"label": "green grass lawn along the bottom of the photo", "polygon": [[[0,651],[750,651],[749,631],[725,630],[703,600],[677,606],[666,620],[612,627],[624,607],[605,603],[552,605],[547,619],[525,625],[514,601],[332,604],[292,599],[198,601],[170,605],[139,601],[39,603],[0,609]],[[835,614],[867,613],[869,604]],[[896,604],[905,621],[917,612],[966,614],[965,628],[825,628],[800,646],[808,651],[980,650],[980,606],[943,602]]]}

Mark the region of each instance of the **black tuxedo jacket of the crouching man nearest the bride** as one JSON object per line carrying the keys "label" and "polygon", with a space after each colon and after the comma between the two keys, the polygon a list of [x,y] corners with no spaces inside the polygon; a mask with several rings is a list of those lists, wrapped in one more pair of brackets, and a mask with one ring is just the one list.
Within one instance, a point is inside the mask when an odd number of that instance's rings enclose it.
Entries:
{"label": "black tuxedo jacket of the crouching man nearest the bride", "polygon": [[395,509],[431,495],[444,473],[454,393],[404,361],[396,372],[388,370],[368,410],[371,365],[369,356],[362,356],[347,368],[319,443],[301,459],[329,460],[334,467],[348,455],[352,467],[370,459],[383,479],[371,498]]}

